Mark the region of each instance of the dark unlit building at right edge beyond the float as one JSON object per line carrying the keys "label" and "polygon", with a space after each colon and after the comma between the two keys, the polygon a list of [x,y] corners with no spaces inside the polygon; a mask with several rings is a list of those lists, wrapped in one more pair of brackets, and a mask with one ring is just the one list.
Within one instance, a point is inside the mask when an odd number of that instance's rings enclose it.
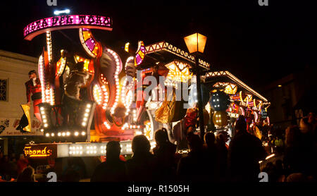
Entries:
{"label": "dark unlit building at right edge beyond the float", "polygon": [[271,101],[268,114],[275,128],[285,130],[299,124],[309,112],[316,112],[316,66],[306,66],[297,73],[271,82],[263,94]]}

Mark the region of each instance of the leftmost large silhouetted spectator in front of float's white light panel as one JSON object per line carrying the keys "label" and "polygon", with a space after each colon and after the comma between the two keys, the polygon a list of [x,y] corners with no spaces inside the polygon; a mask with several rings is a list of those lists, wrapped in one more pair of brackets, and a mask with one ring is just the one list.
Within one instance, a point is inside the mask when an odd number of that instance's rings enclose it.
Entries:
{"label": "leftmost large silhouetted spectator in front of float's white light panel", "polygon": [[128,180],[125,161],[120,160],[120,142],[111,141],[106,146],[106,161],[94,170],[91,182],[123,182]]}

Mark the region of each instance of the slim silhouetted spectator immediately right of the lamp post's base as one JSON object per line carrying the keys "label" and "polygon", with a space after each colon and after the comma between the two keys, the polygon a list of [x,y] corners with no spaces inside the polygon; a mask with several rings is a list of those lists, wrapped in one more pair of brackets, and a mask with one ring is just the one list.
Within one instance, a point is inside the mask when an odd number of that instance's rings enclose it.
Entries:
{"label": "slim silhouetted spectator immediately right of the lamp post's base", "polygon": [[206,172],[209,174],[209,180],[216,180],[216,161],[217,161],[217,149],[215,144],[215,134],[207,132],[204,135],[205,151],[206,151]]}

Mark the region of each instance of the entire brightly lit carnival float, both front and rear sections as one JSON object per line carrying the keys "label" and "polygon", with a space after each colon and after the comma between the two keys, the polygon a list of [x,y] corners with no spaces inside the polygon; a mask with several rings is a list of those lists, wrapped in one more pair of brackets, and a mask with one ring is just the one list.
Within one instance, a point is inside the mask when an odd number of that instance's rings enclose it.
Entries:
{"label": "entire brightly lit carnival float, both front and rear sections", "polygon": [[[49,144],[26,145],[27,157],[103,156],[106,142],[111,140],[120,141],[121,154],[132,154],[131,141],[135,135],[146,135],[154,147],[154,130],[166,125],[170,126],[170,133],[175,124],[188,116],[187,108],[195,106],[197,87],[192,68],[198,62],[206,73],[209,63],[202,59],[196,61],[189,52],[165,41],[149,45],[142,41],[136,45],[125,44],[125,52],[130,56],[123,63],[116,51],[102,45],[91,31],[111,31],[112,27],[110,17],[90,15],[54,16],[25,27],[26,40],[46,35],[46,49],[39,56],[38,63],[42,85],[39,109],[41,131],[51,141]],[[61,56],[55,62],[51,32],[70,28],[79,30],[80,43],[89,58],[60,49]],[[70,92],[74,89],[68,91],[67,86],[77,84],[77,80],[72,82],[71,79],[76,74],[77,78],[82,78],[82,83],[75,89],[77,94],[73,95]],[[153,76],[159,82],[154,85],[147,81],[144,85],[147,76]],[[160,80],[162,77],[164,80]],[[206,125],[213,123],[218,130],[229,130],[230,119],[237,118],[238,114],[250,114],[251,117],[247,118],[249,127],[258,121],[269,123],[266,114],[268,100],[228,71],[209,72],[201,79],[206,108],[204,121],[208,122],[209,116],[213,119]],[[144,90],[149,85],[154,85],[154,88],[150,98],[145,99]],[[172,93],[168,94],[168,89],[172,89]],[[189,92],[189,100],[176,100],[177,91],[181,94]],[[218,99],[213,99],[218,96],[216,93],[225,94],[228,102],[218,97],[221,104],[216,104]],[[166,100],[167,97],[171,97],[168,99],[171,101]],[[184,104],[187,108],[183,107]],[[218,105],[225,105],[225,108],[217,108]],[[179,142],[180,135],[174,130],[173,133],[173,139]]]}

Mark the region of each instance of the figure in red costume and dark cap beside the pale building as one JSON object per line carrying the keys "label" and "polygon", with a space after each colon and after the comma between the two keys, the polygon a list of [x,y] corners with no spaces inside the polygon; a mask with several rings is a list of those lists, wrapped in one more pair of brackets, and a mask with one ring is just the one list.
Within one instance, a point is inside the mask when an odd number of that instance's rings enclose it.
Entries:
{"label": "figure in red costume and dark cap beside the pale building", "polygon": [[[35,70],[30,71],[29,78],[27,82],[25,82],[25,89],[26,89],[26,97],[27,97],[27,105],[31,105],[31,99],[33,101],[33,109],[34,115],[41,120],[41,115],[39,114],[39,106],[38,104],[42,103],[42,87],[39,78],[37,78],[37,72]],[[32,96],[31,96],[32,94]]]}

